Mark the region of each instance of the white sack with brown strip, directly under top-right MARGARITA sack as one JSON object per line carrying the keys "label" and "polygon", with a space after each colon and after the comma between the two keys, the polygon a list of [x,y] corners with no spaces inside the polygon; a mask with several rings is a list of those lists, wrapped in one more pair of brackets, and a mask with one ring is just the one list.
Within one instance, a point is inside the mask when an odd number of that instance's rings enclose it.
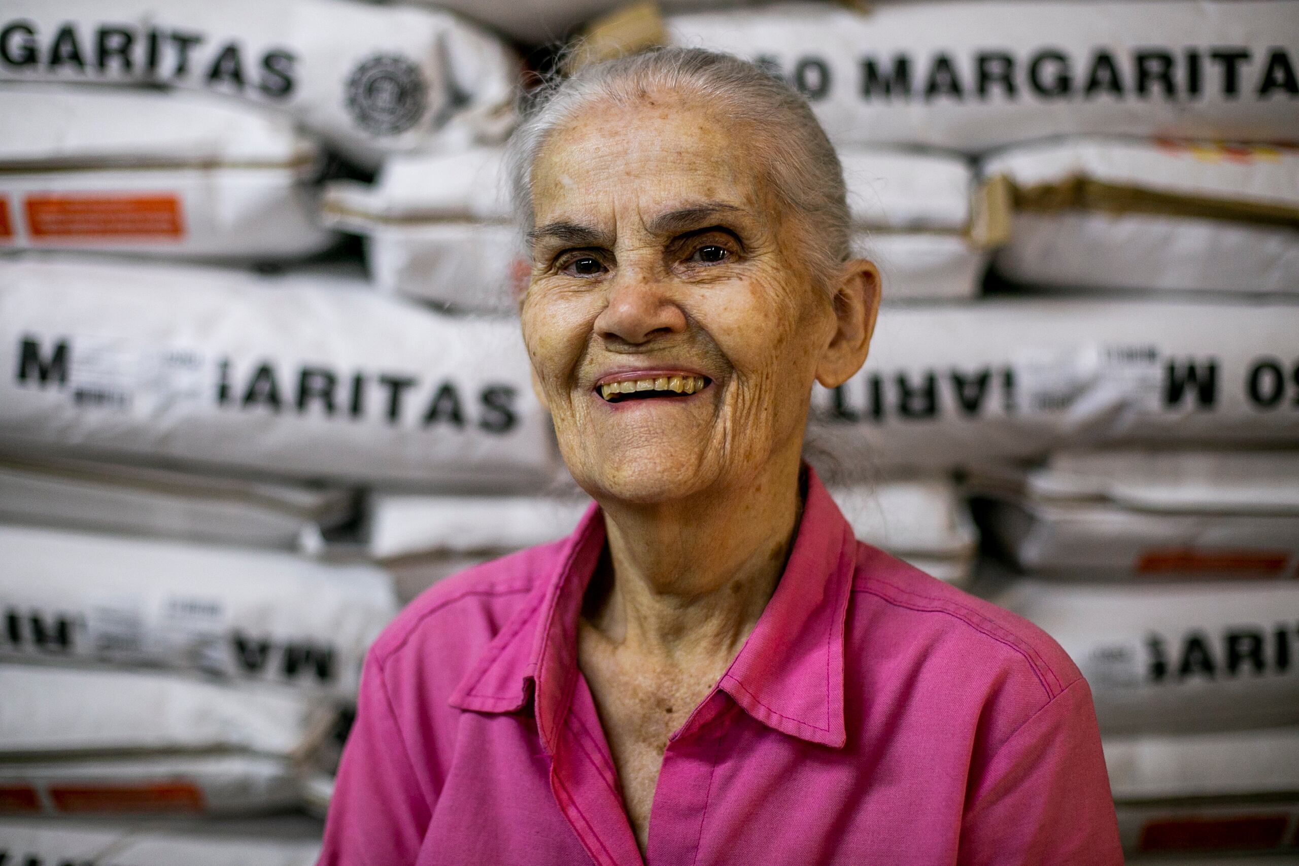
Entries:
{"label": "white sack with brown strip, directly under top-right MARGARITA sack", "polygon": [[1299,149],[1073,139],[983,164],[1013,187],[1005,277],[1040,286],[1299,292]]}

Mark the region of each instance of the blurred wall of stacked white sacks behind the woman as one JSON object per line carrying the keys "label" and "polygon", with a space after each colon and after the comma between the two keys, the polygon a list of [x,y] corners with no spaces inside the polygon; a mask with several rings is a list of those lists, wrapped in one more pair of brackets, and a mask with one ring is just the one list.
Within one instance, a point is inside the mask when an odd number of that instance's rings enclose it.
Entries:
{"label": "blurred wall of stacked white sacks behind the woman", "polygon": [[1134,862],[1299,862],[1299,4],[0,0],[0,863],[313,862],[369,641],[586,508],[500,144],[656,44],[839,147],[859,538],[1073,656]]}

